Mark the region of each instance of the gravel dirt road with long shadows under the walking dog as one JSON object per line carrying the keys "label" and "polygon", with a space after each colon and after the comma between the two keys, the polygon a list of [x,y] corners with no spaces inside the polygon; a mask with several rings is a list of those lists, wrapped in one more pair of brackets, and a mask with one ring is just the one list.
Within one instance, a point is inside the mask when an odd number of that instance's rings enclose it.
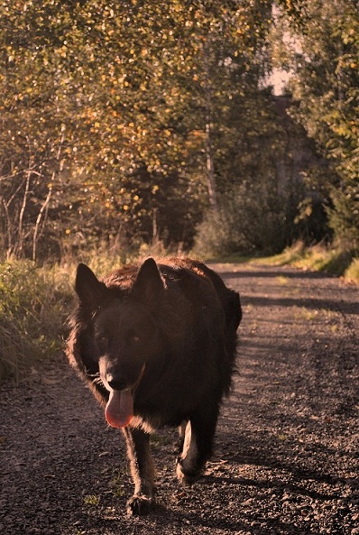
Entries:
{"label": "gravel dirt road with long shadows under the walking dog", "polygon": [[3,535],[358,535],[359,290],[285,268],[216,265],[240,291],[239,375],[191,489],[176,434],[152,440],[158,508],[125,515],[124,442],[63,356],[0,390]]}

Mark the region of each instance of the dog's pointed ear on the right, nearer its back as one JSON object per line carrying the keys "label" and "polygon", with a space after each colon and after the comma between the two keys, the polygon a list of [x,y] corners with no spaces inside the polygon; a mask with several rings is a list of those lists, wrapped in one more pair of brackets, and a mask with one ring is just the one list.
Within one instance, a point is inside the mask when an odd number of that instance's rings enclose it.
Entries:
{"label": "dog's pointed ear on the right, nearer its back", "polygon": [[132,295],[134,299],[151,306],[161,299],[163,290],[164,285],[157,264],[153,258],[148,258],[137,274],[133,284]]}

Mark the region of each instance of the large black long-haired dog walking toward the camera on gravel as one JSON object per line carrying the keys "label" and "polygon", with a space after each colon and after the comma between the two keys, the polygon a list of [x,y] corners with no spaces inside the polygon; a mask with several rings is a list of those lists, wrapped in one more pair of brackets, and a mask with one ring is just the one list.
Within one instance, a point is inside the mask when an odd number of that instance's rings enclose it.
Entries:
{"label": "large black long-haired dog walking toward the camera on gravel", "polygon": [[[153,429],[180,426],[177,475],[184,484],[198,479],[211,455],[235,370],[239,295],[203,263],[152,258],[103,282],[79,264],[76,291],[69,362],[106,406],[106,419],[123,429],[135,485],[128,511],[142,514],[154,500]],[[122,410],[125,421],[117,425],[108,399],[123,394],[121,407],[133,402],[133,410]]]}

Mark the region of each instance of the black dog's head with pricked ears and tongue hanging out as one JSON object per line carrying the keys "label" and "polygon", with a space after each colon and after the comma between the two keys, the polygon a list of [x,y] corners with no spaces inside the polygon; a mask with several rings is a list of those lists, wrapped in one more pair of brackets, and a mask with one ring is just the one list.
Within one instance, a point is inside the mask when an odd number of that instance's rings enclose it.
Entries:
{"label": "black dog's head with pricked ears and tongue hanging out", "polygon": [[109,392],[106,420],[113,427],[124,427],[133,416],[133,392],[147,362],[158,351],[152,310],[164,292],[160,272],[152,258],[146,260],[130,287],[121,292],[79,264],[75,288],[79,309],[91,323],[89,356],[97,362],[101,382]]}

